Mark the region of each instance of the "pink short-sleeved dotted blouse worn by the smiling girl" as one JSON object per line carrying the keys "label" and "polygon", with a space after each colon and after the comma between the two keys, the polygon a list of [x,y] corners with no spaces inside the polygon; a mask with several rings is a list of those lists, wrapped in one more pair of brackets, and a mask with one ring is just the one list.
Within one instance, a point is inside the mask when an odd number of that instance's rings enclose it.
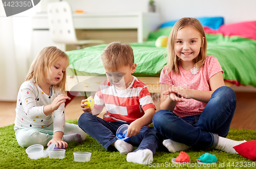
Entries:
{"label": "pink short-sleeved dotted blouse worn by the smiling girl", "polygon": [[[218,59],[208,55],[204,65],[196,75],[192,75],[190,70],[184,70],[179,65],[180,75],[176,75],[171,71],[169,74],[164,75],[166,66],[162,69],[160,75],[160,83],[167,85],[175,85],[176,87],[182,86],[189,89],[210,91],[209,79],[215,74],[223,70]],[[205,108],[206,103],[199,102],[194,99],[185,99],[184,102],[178,102],[174,109],[174,113],[179,117],[201,114]]]}

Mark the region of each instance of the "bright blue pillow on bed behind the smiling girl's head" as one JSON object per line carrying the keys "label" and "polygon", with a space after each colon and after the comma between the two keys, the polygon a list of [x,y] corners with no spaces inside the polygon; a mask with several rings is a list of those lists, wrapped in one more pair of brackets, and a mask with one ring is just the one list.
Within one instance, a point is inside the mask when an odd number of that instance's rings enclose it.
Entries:
{"label": "bright blue pillow on bed behind the smiling girl's head", "polygon": [[[196,17],[202,26],[210,27],[211,29],[219,29],[224,24],[223,17]],[[173,27],[178,20],[171,20],[163,23],[160,28]]]}

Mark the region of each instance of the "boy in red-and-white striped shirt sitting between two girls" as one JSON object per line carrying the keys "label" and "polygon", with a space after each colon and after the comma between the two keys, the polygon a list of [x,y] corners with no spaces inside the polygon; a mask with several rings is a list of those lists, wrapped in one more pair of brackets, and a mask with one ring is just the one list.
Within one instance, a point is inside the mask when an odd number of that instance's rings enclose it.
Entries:
{"label": "boy in red-and-white striped shirt sitting between two girls", "polygon": [[[78,126],[106,150],[116,148],[121,154],[128,153],[128,162],[147,165],[153,161],[161,136],[154,128],[148,127],[156,107],[146,85],[132,76],[137,66],[133,49],[129,44],[112,42],[106,46],[101,59],[108,80],[100,84],[92,110],[84,108],[86,100],[81,101],[84,113]],[[106,113],[101,119],[96,115],[103,107]],[[127,142],[116,137],[118,127],[123,124],[129,125],[126,136],[131,139]],[[133,146],[138,149],[133,151]]]}

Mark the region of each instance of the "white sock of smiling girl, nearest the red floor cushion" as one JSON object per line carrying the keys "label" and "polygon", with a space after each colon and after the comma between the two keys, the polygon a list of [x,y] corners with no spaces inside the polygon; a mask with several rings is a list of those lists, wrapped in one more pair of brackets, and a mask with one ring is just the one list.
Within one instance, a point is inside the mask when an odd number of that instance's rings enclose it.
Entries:
{"label": "white sock of smiling girl, nearest the red floor cushion", "polygon": [[246,140],[236,141],[236,140],[231,140],[231,139],[219,136],[219,142],[215,149],[234,154],[237,152],[236,152],[236,150],[233,149],[233,147],[237,146],[238,144],[241,144],[243,142],[246,142]]}

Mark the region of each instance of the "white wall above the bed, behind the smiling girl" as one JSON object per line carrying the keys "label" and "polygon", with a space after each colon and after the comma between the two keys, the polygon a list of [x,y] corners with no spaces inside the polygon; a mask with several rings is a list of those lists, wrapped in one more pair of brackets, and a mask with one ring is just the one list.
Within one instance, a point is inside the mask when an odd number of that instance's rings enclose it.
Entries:
{"label": "white wall above the bed, behind the smiling girl", "polygon": [[156,0],[162,21],[223,16],[225,23],[256,20],[255,0]]}

